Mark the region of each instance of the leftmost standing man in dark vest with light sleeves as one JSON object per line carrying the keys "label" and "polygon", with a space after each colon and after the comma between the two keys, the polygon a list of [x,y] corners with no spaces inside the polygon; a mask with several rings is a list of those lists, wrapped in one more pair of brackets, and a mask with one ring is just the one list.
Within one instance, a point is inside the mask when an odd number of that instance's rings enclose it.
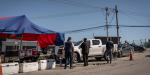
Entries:
{"label": "leftmost standing man in dark vest with light sleeves", "polygon": [[74,44],[71,42],[71,37],[65,43],[65,68],[67,67],[68,59],[70,59],[70,69],[73,69]]}

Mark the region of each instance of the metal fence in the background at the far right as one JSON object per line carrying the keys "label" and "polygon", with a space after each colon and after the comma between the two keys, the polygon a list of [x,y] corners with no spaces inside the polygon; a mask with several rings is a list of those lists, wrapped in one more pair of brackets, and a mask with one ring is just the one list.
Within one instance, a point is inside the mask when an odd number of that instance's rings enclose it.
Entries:
{"label": "metal fence in the background at the far right", "polygon": [[[129,44],[136,44],[138,46],[149,47],[150,48],[150,39],[140,39],[140,40],[132,40],[128,41]],[[121,44],[125,43],[125,41],[121,41]]]}

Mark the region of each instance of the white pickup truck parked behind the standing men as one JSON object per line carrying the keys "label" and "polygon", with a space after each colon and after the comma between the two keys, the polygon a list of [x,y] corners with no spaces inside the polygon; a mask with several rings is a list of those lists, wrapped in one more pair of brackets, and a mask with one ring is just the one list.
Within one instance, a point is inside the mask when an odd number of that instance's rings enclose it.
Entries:
{"label": "white pickup truck parked behind the standing men", "polygon": [[[90,43],[90,50],[88,56],[93,56],[97,60],[100,60],[101,58],[106,59],[106,45],[102,45],[102,41],[100,39],[88,39],[87,40]],[[82,49],[80,48],[80,45],[83,43],[82,41],[78,41],[74,44],[74,56],[73,56],[73,62],[76,63],[80,59],[82,59]],[[117,44],[114,44],[114,52],[117,52]],[[97,58],[98,57],[98,58]]]}

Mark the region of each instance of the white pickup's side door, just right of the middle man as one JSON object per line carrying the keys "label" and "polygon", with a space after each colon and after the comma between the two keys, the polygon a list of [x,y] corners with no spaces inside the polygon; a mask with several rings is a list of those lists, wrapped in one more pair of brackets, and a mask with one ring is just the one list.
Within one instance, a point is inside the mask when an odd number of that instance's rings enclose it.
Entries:
{"label": "white pickup's side door, just right of the middle man", "polygon": [[90,50],[92,51],[92,55],[101,55],[102,54],[102,47],[100,46],[99,40],[92,40],[92,45]]}

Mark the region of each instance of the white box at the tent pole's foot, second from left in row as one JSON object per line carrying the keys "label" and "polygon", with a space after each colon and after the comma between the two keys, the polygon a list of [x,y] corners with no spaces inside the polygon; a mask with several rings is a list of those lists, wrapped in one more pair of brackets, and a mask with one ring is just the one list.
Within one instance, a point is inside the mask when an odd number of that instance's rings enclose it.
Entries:
{"label": "white box at the tent pole's foot, second from left in row", "polygon": [[38,62],[20,63],[19,72],[32,72],[38,71]]}

